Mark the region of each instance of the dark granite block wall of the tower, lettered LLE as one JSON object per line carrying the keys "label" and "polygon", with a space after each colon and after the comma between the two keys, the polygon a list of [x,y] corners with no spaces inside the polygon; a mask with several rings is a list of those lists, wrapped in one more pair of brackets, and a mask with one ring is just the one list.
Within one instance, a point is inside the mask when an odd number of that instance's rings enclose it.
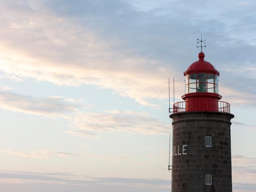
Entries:
{"label": "dark granite block wall of the tower, lettered LLE", "polygon": [[[230,120],[222,112],[181,112],[173,119],[172,191],[232,192]],[[205,146],[212,136],[212,147]],[[205,174],[212,174],[212,185]]]}

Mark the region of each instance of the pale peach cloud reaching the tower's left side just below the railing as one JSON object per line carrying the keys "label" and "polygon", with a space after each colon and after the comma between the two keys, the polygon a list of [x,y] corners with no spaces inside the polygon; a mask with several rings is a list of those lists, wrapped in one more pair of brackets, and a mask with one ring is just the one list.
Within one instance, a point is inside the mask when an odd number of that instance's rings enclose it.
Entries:
{"label": "pale peach cloud reaching the tower's left side just below the railing", "polygon": [[76,112],[67,132],[86,138],[99,138],[100,132],[129,132],[166,134],[170,125],[152,118],[145,112],[105,111],[105,113]]}

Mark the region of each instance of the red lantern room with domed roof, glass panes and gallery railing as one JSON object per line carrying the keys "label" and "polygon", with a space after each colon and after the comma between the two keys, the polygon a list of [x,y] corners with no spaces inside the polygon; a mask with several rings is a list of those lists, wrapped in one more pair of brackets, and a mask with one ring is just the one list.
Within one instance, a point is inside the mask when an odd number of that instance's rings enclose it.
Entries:
{"label": "red lantern room with domed roof, glass panes and gallery railing", "polygon": [[204,53],[198,54],[198,61],[191,64],[184,72],[185,94],[184,102],[177,102],[173,106],[174,113],[187,111],[230,111],[227,102],[219,101],[218,72],[212,64],[204,60]]}

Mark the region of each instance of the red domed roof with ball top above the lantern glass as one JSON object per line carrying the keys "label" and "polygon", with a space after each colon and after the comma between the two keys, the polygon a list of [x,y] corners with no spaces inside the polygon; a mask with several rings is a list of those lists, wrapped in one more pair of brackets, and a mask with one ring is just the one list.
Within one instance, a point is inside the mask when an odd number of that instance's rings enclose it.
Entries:
{"label": "red domed roof with ball top above the lantern glass", "polygon": [[212,64],[204,60],[204,53],[200,52],[198,54],[199,60],[191,64],[188,69],[184,72],[184,75],[191,73],[214,73],[219,75],[218,72]]}

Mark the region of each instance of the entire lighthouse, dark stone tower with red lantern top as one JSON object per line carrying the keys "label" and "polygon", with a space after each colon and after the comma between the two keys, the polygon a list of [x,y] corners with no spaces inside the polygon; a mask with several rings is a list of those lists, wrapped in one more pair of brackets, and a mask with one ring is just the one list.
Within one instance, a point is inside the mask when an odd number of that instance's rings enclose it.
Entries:
{"label": "entire lighthouse, dark stone tower with red lantern top", "polygon": [[220,101],[220,73],[204,56],[200,52],[199,60],[184,72],[184,101],[175,103],[170,114],[172,192],[232,192],[230,120],[234,115],[230,104]]}

